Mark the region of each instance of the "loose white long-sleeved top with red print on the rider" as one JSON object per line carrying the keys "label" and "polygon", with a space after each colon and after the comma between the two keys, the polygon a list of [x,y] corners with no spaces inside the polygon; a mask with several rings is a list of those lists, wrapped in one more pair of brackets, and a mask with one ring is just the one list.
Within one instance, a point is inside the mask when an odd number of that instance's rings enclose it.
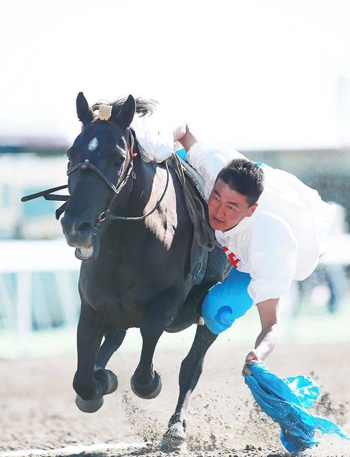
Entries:
{"label": "loose white long-sleeved top with red print on the rider", "polygon": [[[196,143],[187,160],[204,178],[208,198],[220,169],[243,157],[218,143]],[[228,232],[216,231],[218,242],[239,271],[249,273],[248,293],[254,304],[281,297],[293,279],[307,278],[319,261],[335,206],[294,175],[263,165],[265,187],[258,207]]]}

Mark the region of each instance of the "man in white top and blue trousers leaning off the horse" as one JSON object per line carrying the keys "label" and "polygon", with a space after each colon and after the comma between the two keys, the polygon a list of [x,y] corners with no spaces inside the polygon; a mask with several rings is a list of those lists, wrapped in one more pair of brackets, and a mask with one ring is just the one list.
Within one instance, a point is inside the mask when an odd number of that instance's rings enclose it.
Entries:
{"label": "man in white top and blue trousers leaning off the horse", "polygon": [[[173,129],[173,140],[204,178],[209,222],[233,265],[227,279],[209,290],[203,318],[219,334],[257,306],[262,331],[242,371],[251,374],[249,365],[276,345],[280,297],[316,268],[335,207],[290,173],[254,163],[230,146],[199,142],[186,124]],[[151,157],[159,144],[151,146],[147,160],[166,158],[166,148]]]}

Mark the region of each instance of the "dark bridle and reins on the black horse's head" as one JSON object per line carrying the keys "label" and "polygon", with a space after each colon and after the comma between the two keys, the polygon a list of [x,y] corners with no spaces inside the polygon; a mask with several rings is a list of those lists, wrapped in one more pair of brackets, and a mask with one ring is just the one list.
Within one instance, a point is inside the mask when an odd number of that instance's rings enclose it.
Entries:
{"label": "dark bridle and reins on the black horse's head", "polygon": [[[126,129],[126,132],[122,130],[119,125],[115,124],[114,122],[111,122],[109,120],[101,120],[101,119],[94,119],[92,122],[108,122],[109,124],[113,125],[114,127],[118,128],[121,133],[123,134],[123,137],[125,139],[126,145],[128,146],[129,150],[129,161],[128,164],[125,166],[126,159],[124,160],[124,164],[122,166],[122,171],[120,172],[120,177],[119,180],[116,184],[113,184],[112,181],[98,168],[96,165],[91,164],[90,160],[85,159],[83,162],[80,162],[79,164],[75,165],[74,167],[70,167],[67,170],[67,176],[70,176],[73,172],[77,170],[92,170],[94,173],[100,176],[104,180],[104,182],[108,185],[108,187],[112,191],[112,197],[110,198],[107,208],[99,215],[99,218],[97,220],[97,223],[101,223],[105,219],[111,219],[111,220],[143,220],[149,215],[151,215],[161,204],[162,200],[164,199],[164,196],[167,192],[168,185],[169,185],[169,168],[168,164],[165,161],[165,167],[167,170],[167,182],[165,185],[165,189],[163,191],[163,194],[161,198],[158,200],[154,208],[149,211],[147,214],[144,214],[143,216],[139,217],[124,217],[124,216],[116,216],[114,214],[111,214],[111,208],[121,191],[121,189],[125,186],[125,184],[128,182],[130,175],[132,176],[133,179],[136,179],[136,174],[133,171],[134,168],[134,157],[137,156],[137,152],[133,152],[134,149],[134,135],[132,133],[132,130],[128,127]],[[129,138],[131,141],[129,141]],[[54,187],[52,189],[47,189],[47,190],[42,190],[41,192],[34,193],[31,195],[26,195],[25,197],[22,197],[21,201],[22,202],[27,202],[28,200],[33,200],[38,197],[44,197],[45,200],[58,200],[58,201],[66,201],[58,210],[56,211],[56,218],[58,219],[59,216],[65,211],[68,200],[69,200],[69,195],[50,195],[52,192],[55,192],[56,190],[61,190],[67,188],[68,185],[64,186],[58,186]]]}

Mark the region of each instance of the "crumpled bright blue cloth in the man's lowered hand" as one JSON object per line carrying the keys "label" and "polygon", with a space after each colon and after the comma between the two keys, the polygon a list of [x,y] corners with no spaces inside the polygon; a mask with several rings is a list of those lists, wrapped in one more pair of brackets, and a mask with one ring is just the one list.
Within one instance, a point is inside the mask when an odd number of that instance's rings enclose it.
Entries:
{"label": "crumpled bright blue cloth in the man's lowered hand", "polygon": [[279,378],[262,362],[249,366],[252,376],[245,383],[261,409],[281,428],[280,440],[292,454],[319,444],[316,430],[349,439],[334,422],[307,411],[320,396],[320,386],[309,376]]}

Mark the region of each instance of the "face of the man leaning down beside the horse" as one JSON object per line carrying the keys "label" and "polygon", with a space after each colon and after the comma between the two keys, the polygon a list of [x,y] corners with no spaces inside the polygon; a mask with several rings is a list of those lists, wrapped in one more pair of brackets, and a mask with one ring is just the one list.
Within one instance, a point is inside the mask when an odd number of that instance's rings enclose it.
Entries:
{"label": "face of the man leaning down beside the horse", "polygon": [[250,217],[257,206],[257,203],[249,206],[245,195],[218,179],[208,200],[210,225],[214,230],[226,232],[245,217]]}

